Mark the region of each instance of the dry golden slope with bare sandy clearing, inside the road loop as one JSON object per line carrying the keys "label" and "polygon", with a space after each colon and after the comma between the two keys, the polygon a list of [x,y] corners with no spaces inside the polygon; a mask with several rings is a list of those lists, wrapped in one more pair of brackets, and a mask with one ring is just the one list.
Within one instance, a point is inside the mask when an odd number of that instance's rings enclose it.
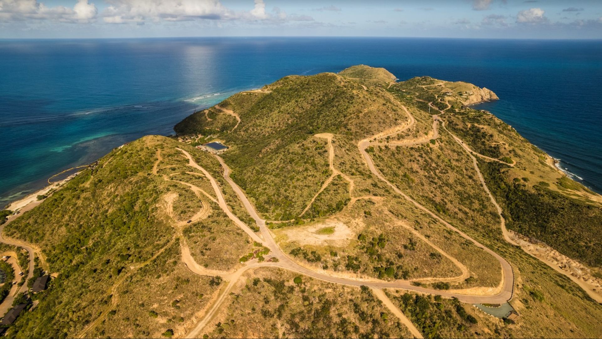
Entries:
{"label": "dry golden slope with bare sandy clearing, inside the road loop", "polygon": [[[308,235],[303,239],[303,234],[308,232],[306,230],[311,232],[329,226],[329,220],[332,220],[330,223],[344,225],[343,241],[341,231],[321,237],[312,235],[312,238],[321,241],[312,240]],[[389,213],[382,199],[377,199],[376,202],[362,199],[326,222],[317,220],[293,228],[275,229],[274,232],[285,253],[290,253],[297,247],[310,253],[310,260],[304,260],[303,255],[291,255],[293,260],[335,274],[378,278],[377,267],[393,267],[397,276],[380,275],[380,278],[452,278],[461,275],[461,271],[450,260],[441,255],[432,255],[437,250],[413,234],[410,228],[406,220],[399,220]],[[376,252],[370,252],[369,248],[373,247],[370,245],[371,239],[378,238],[381,234],[386,239],[383,247],[374,246]],[[363,237],[360,239],[359,235]],[[312,251],[320,256],[320,260],[314,261]],[[350,260],[348,256],[354,259]],[[357,263],[357,266],[351,266],[353,263]]]}

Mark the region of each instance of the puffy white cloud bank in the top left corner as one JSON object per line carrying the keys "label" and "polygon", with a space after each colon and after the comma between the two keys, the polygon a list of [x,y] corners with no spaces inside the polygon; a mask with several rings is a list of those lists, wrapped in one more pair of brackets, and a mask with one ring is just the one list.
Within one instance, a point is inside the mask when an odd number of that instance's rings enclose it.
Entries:
{"label": "puffy white cloud bank in the top left corner", "polygon": [[55,20],[58,22],[90,22],[96,19],[96,6],[88,0],[78,0],[73,8],[46,7],[37,0],[0,0],[0,20]]}

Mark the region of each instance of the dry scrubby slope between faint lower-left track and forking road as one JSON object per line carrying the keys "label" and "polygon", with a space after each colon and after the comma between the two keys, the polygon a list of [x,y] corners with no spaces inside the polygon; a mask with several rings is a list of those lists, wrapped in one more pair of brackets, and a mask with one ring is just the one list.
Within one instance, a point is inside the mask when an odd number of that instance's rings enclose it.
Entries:
{"label": "dry scrubby slope between faint lower-left track and forking road", "polygon": [[128,278],[116,291],[119,303],[90,337],[161,337],[172,329],[183,337],[202,317],[220,286],[211,278],[194,275],[182,264],[179,244]]}

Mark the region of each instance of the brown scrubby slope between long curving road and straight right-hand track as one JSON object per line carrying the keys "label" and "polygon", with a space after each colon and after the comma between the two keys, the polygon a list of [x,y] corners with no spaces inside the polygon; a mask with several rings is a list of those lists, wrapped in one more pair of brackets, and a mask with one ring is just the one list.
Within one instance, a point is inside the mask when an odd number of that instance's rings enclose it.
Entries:
{"label": "brown scrubby slope between long curving road and straight right-hand track", "polygon": [[449,135],[436,145],[378,146],[374,163],[389,181],[460,229],[500,234],[494,205],[473,163]]}

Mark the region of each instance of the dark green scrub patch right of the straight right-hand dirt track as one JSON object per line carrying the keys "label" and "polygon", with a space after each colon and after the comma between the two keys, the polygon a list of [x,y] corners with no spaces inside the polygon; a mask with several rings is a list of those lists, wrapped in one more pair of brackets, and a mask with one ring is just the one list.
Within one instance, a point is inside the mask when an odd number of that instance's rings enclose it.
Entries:
{"label": "dark green scrub patch right of the straight right-hand dirt track", "polygon": [[602,208],[541,185],[510,182],[504,165],[479,161],[509,229],[533,237],[582,263],[602,267]]}

